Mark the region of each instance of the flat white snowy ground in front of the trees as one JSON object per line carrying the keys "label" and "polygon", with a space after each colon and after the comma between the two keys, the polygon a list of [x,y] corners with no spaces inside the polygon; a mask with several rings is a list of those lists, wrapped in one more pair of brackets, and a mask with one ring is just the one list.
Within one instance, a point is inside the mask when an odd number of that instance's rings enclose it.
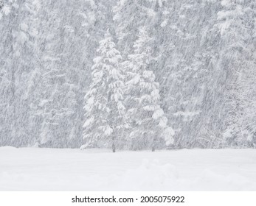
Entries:
{"label": "flat white snowy ground in front of the trees", "polygon": [[0,147],[0,191],[256,191],[256,149]]}

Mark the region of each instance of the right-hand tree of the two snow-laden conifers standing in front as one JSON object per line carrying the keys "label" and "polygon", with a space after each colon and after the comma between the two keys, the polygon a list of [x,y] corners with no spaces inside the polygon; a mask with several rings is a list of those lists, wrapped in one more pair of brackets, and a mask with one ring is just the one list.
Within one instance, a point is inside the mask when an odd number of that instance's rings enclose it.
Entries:
{"label": "right-hand tree of the two snow-laden conifers standing in front", "polygon": [[[126,99],[128,138],[130,148],[162,148],[173,143],[173,129],[167,127],[167,118],[160,107],[159,83],[155,81],[153,71],[148,71],[151,40],[145,28],[139,29],[138,39],[134,43],[134,54],[128,55],[124,65],[127,73]],[[165,135],[165,136],[163,136]]]}

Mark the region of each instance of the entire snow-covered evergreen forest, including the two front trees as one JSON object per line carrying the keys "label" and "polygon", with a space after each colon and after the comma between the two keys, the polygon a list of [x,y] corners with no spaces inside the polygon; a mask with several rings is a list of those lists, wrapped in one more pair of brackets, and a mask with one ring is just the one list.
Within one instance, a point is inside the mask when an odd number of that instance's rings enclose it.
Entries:
{"label": "entire snow-covered evergreen forest, including the two front trees", "polygon": [[255,0],[0,0],[0,146],[256,147]]}

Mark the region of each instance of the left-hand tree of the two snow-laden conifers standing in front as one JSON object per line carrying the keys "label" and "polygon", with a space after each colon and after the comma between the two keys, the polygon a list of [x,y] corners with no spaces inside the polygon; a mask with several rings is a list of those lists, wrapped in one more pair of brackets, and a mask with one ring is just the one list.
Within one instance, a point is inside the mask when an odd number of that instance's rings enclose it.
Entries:
{"label": "left-hand tree of the two snow-laden conifers standing in front", "polygon": [[125,127],[125,107],[123,104],[124,75],[120,61],[120,51],[115,49],[109,31],[100,40],[97,49],[98,57],[94,58],[91,73],[91,86],[86,93],[86,121],[83,124],[83,138],[87,147],[112,146],[113,152],[120,141]]}

